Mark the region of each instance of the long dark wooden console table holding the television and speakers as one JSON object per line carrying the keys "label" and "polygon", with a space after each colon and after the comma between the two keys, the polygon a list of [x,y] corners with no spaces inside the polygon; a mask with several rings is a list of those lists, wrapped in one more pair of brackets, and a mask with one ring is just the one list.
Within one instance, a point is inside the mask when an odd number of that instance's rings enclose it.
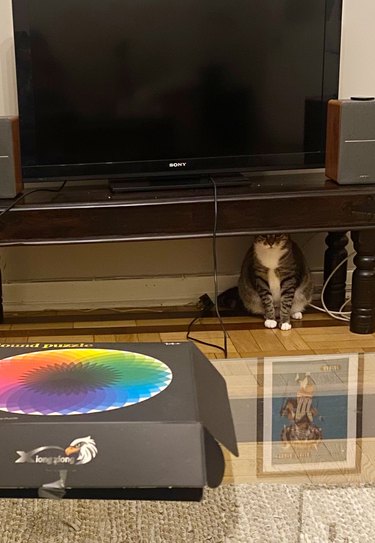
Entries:
{"label": "long dark wooden console table holding the television and speakers", "polygon": [[[0,212],[11,202],[1,200]],[[113,194],[106,186],[71,183],[56,193],[34,192],[0,216],[0,245],[201,238],[212,236],[213,224],[211,188]],[[217,234],[262,232],[328,232],[325,277],[346,255],[350,232],[356,251],[350,329],[374,332],[375,185],[340,186],[309,173],[220,186]],[[331,309],[344,302],[345,276],[342,266],[327,289]]]}

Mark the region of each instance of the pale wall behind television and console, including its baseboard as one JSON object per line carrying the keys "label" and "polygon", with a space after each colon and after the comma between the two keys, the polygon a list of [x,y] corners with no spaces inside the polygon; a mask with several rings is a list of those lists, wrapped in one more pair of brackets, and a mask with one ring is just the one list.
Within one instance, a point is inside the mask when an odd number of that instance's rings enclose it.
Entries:
{"label": "pale wall behind television and console, including its baseboard", "polygon": [[[344,0],[340,96],[375,95],[374,0]],[[0,0],[0,115],[17,113],[11,0]],[[324,235],[295,236],[321,284]],[[218,240],[219,289],[232,286],[250,238]],[[210,240],[1,250],[6,310],[194,303],[212,295]]]}

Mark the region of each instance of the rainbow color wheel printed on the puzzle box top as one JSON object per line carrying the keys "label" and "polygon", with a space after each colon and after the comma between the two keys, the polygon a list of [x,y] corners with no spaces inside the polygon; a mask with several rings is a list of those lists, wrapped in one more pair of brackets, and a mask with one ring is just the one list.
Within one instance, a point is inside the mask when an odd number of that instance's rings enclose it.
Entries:
{"label": "rainbow color wheel printed on the puzzle box top", "polygon": [[0,411],[25,415],[111,411],[156,396],[172,378],[160,360],[130,351],[25,353],[0,360]]}

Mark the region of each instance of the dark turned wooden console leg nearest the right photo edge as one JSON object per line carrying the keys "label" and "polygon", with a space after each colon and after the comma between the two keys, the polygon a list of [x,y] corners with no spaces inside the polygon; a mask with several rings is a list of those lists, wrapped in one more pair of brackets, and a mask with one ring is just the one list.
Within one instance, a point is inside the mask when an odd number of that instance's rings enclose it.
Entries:
{"label": "dark turned wooden console leg nearest the right photo edge", "polygon": [[352,232],[355,270],[352,283],[350,330],[371,334],[375,329],[375,230]]}

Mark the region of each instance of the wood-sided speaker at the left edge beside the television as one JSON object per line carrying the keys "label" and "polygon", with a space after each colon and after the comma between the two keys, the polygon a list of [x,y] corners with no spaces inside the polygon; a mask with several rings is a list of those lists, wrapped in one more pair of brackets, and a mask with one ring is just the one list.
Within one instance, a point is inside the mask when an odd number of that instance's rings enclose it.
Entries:
{"label": "wood-sided speaker at the left edge beside the television", "polygon": [[0,198],[22,192],[18,117],[0,117]]}

